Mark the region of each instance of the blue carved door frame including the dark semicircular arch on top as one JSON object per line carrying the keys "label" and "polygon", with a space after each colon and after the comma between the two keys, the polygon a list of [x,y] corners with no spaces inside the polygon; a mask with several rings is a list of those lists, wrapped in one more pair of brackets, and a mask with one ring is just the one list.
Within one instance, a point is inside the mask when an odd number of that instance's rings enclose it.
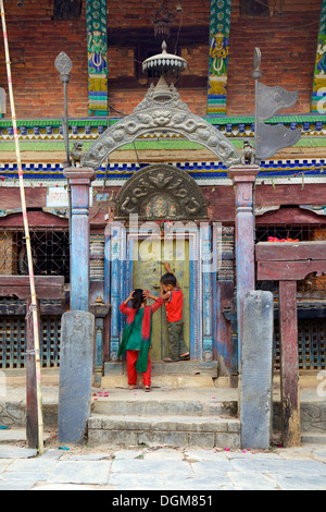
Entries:
{"label": "blue carved door frame including the dark semicircular arch on top", "polygon": [[[158,191],[168,194],[171,204],[175,200],[174,215],[167,215],[160,221],[156,221],[158,217],[146,214],[146,205],[156,197]],[[189,240],[190,354],[192,359],[212,361],[213,282],[216,273],[205,269],[205,265],[212,254],[213,227],[208,220],[206,205],[199,186],[174,166],[148,166],[131,176],[120,191],[114,219],[108,224],[105,245],[105,273],[111,277],[110,293],[106,293],[112,304],[111,361],[116,361],[125,320],[118,305],[133,288],[135,241],[148,237],[149,231],[161,237],[162,223],[164,235],[171,229],[173,232],[170,235]]]}

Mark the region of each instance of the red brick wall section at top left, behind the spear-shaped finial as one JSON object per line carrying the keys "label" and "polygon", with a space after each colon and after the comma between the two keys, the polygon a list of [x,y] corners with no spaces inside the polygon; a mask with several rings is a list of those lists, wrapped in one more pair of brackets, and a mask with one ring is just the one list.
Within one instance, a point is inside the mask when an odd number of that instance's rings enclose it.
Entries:
{"label": "red brick wall section at top left, behind the spear-shaped finial", "polygon": [[[25,0],[24,8],[17,8],[16,0],[5,2],[17,118],[53,119],[64,113],[63,86],[54,68],[60,51],[65,51],[74,63],[68,86],[70,114],[87,115],[85,12],[77,22],[54,22],[52,15],[52,0]],[[0,86],[8,90],[2,33],[0,39]]]}

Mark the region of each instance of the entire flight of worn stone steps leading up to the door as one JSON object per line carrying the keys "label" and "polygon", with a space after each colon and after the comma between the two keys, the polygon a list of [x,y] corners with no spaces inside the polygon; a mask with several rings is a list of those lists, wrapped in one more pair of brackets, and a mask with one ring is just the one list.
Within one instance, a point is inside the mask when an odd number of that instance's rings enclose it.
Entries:
{"label": "entire flight of worn stone steps leading up to the door", "polygon": [[100,391],[93,400],[88,444],[239,448],[237,390],[216,388],[216,362],[153,363],[146,393],[141,381],[127,389],[123,365],[106,365],[109,397]]}

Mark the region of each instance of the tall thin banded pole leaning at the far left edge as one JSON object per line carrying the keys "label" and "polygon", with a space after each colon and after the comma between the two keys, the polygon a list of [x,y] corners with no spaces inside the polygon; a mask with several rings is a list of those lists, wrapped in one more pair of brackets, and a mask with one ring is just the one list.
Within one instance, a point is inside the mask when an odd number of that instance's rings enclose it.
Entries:
{"label": "tall thin banded pole leaning at the far left edge", "polygon": [[[42,454],[43,453],[43,419],[42,419],[42,397],[41,397],[41,375],[40,375],[39,317],[38,317],[38,309],[37,309],[35,276],[34,276],[34,269],[33,269],[33,256],[32,256],[29,227],[28,227],[28,219],[27,219],[27,207],[26,207],[26,198],[25,198],[21,149],[20,149],[20,142],[18,142],[18,131],[17,131],[17,124],[16,124],[16,113],[15,113],[15,103],[14,103],[14,95],[13,95],[13,86],[12,86],[9,41],[8,41],[8,33],[7,33],[7,25],[5,25],[3,0],[0,0],[0,9],[1,9],[1,21],[2,21],[2,31],[3,31],[3,39],[4,39],[5,64],[7,64],[7,74],[8,74],[11,115],[12,115],[16,160],[17,160],[18,178],[20,178],[20,191],[21,191],[21,202],[22,202],[25,240],[26,240],[27,261],[28,261],[28,273],[29,273],[29,285],[30,285],[30,307],[29,307],[29,312],[27,312],[27,315],[30,315],[30,314],[33,315],[34,350],[32,352],[34,352],[35,354],[36,382],[34,382],[34,386],[36,386],[36,399],[37,399],[38,451],[39,451],[39,454]],[[27,387],[28,386],[29,383],[27,381]]]}

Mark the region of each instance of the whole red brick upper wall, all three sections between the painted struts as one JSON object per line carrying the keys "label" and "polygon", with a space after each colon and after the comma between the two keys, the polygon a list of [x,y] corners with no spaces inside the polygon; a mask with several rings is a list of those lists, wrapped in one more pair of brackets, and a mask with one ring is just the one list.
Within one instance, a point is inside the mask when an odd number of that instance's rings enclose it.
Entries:
{"label": "whole red brick upper wall, all three sections between the painted struts", "polygon": [[[321,0],[287,0],[283,14],[272,5],[268,17],[241,17],[240,0],[233,0],[227,114],[253,114],[252,56],[255,46],[262,51],[262,82],[299,90],[299,102],[290,110],[302,113],[310,110],[310,96],[316,50]],[[86,47],[85,1],[83,14],[75,22],[52,21],[53,1],[25,0],[24,8],[16,1],[7,2],[7,24],[10,41],[13,84],[18,118],[60,118],[63,113],[63,89],[54,69],[60,51],[73,60],[68,86],[70,115],[88,115],[88,73]],[[179,53],[187,59],[189,70],[177,84],[180,97],[190,109],[204,115],[206,112],[208,42],[197,42],[185,34],[195,27],[201,40],[209,38],[209,0],[184,0]],[[173,7],[170,5],[173,10]],[[273,12],[273,9],[276,9]],[[143,98],[148,83],[135,77],[135,42],[153,34],[152,17],[158,9],[155,0],[109,0],[109,101],[111,114],[129,114]],[[176,15],[174,34],[180,24]],[[122,46],[113,45],[110,35],[125,34]],[[133,31],[138,32],[137,36]],[[151,32],[152,31],[152,32]],[[133,36],[134,34],[134,36]],[[153,38],[153,36],[152,36]],[[153,38],[154,39],[154,38]],[[130,42],[128,42],[130,40]],[[184,41],[184,42],[183,42]],[[158,50],[160,45],[158,44]],[[174,51],[171,44],[170,51]],[[0,45],[0,87],[7,87],[3,45]],[[116,112],[117,111],[117,112]],[[10,115],[10,109],[8,109]]]}

